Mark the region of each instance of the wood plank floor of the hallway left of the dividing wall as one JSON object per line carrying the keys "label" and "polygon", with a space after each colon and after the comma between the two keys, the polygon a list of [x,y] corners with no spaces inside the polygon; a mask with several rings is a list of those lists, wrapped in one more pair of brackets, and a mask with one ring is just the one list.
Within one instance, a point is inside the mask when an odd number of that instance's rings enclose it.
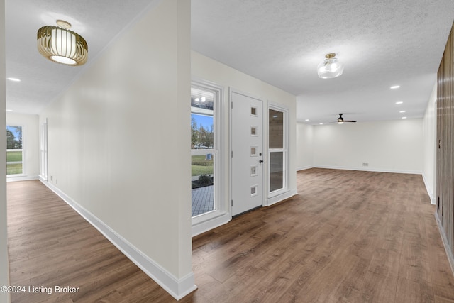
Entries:
{"label": "wood plank floor of the hallway left of the dividing wall", "polygon": [[[39,181],[9,182],[10,284],[19,302],[175,302],[93,226]],[[79,287],[29,293],[28,287]]]}

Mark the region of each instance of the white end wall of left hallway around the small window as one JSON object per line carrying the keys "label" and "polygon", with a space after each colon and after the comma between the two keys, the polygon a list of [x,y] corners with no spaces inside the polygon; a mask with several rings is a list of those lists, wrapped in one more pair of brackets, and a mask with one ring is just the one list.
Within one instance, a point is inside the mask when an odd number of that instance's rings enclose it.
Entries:
{"label": "white end wall of left hallway around the small window", "polygon": [[6,125],[22,126],[23,175],[9,181],[38,179],[40,174],[40,141],[38,115],[6,113]]}

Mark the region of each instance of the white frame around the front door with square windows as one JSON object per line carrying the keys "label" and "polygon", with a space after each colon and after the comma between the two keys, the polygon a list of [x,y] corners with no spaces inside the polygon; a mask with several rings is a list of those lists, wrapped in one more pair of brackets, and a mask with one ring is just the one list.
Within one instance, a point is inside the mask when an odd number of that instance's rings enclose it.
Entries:
{"label": "white frame around the front door with square windows", "polygon": [[[232,204],[233,204],[233,160],[232,160],[232,153],[233,153],[233,150],[232,150],[232,147],[233,147],[233,138],[232,138],[232,134],[233,134],[233,130],[232,130],[232,126],[233,126],[233,103],[232,103],[232,94],[233,93],[236,93],[236,94],[242,94],[243,96],[245,97],[249,97],[249,98],[253,98],[253,99],[257,99],[259,101],[262,102],[262,146],[261,146],[261,150],[262,150],[262,159],[265,163],[267,163],[267,153],[268,153],[268,148],[267,148],[267,145],[265,144],[265,125],[264,125],[264,119],[265,119],[265,114],[267,114],[267,111],[268,111],[268,104],[266,102],[266,99],[260,97],[260,96],[257,96],[257,95],[254,95],[254,94],[250,94],[248,92],[243,92],[241,91],[240,89],[235,89],[233,87],[229,87],[228,88],[228,119],[229,119],[229,126],[228,126],[228,130],[229,130],[229,133],[228,133],[228,145],[229,145],[229,148],[228,148],[228,166],[229,166],[229,171],[228,171],[228,175],[230,176],[229,177],[229,199],[228,199],[228,209],[229,209],[229,212],[230,212],[230,215],[231,217],[233,216],[232,214]],[[267,133],[267,128],[266,128],[266,133]],[[265,201],[266,201],[266,197],[267,197],[267,186],[266,186],[266,179],[265,179],[265,175],[266,175],[266,171],[265,170],[265,167],[266,165],[263,165],[262,166],[262,180],[260,180],[261,182],[261,185],[262,185],[262,206],[265,206]],[[265,173],[266,172],[266,173]]]}

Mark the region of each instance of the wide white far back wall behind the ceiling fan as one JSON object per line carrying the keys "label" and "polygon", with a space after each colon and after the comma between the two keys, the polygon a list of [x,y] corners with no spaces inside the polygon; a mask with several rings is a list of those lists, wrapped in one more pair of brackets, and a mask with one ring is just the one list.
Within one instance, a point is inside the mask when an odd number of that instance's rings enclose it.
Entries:
{"label": "wide white far back wall behind the ceiling fan", "polygon": [[314,126],[314,166],[421,174],[423,119]]}

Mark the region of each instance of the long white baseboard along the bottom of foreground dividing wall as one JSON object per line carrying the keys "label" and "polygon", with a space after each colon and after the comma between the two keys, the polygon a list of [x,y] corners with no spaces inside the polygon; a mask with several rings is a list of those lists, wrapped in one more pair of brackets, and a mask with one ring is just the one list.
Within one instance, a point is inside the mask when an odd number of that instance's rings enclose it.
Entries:
{"label": "long white baseboard along the bottom of foreground dividing wall", "polygon": [[109,226],[104,224],[99,218],[94,216],[90,211],[84,209],[84,207],[74,202],[64,192],[55,187],[50,182],[40,180],[47,186],[52,192],[55,192],[60,198],[63,199],[68,205],[77,211],[85,220],[92,224],[99,232],[101,232],[109,241],[111,241],[116,248],[121,250],[135,265],[137,265],[143,272],[151,277],[158,285],[164,288],[169,294],[175,299],[179,300],[186,296],[190,292],[196,290],[194,273],[190,272],[185,277],[178,279],[170,272],[162,268],[159,264],[155,263],[147,255],[142,253],[138,248],[129,243],[125,238],[121,237]]}

